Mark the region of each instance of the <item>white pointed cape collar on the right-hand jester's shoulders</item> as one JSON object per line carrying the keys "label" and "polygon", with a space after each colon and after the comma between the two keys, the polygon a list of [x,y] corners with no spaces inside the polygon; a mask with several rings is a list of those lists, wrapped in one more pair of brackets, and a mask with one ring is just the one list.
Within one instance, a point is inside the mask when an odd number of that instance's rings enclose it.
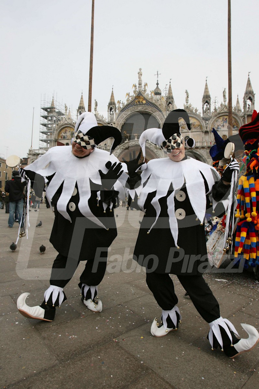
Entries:
{"label": "white pointed cape collar on the right-hand jester's shoulders", "polygon": [[179,162],[174,162],[170,158],[152,159],[147,163],[147,169],[141,174],[141,191],[138,205],[144,212],[144,204],[148,194],[156,192],[155,197],[151,201],[155,208],[156,218],[150,230],[155,226],[161,211],[158,200],[166,196],[171,184],[173,185],[173,193],[167,198],[167,206],[175,247],[177,247],[178,224],[174,213],[174,196],[186,183],[190,204],[197,218],[203,223],[207,204],[207,193],[203,176],[207,181],[209,193],[215,181],[220,180],[220,176],[212,166],[197,159],[187,158]]}

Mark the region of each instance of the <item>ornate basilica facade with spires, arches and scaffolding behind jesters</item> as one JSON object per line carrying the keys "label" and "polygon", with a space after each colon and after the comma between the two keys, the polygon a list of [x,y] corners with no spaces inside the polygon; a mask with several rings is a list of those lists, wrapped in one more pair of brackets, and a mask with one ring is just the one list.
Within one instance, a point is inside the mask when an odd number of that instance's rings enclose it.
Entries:
{"label": "ornate basilica facade with spires, arches and scaffolding behind jesters", "polygon": [[[99,126],[111,125],[121,131],[121,144],[115,149],[114,154],[118,159],[132,159],[138,154],[139,136],[147,128],[162,128],[168,113],[177,106],[174,102],[171,82],[169,88],[163,95],[159,88],[158,80],[153,90],[147,88],[147,83],[142,81],[142,70],[136,74],[138,80],[133,84],[132,94],[126,93],[126,101],[116,102],[114,91],[111,91],[110,100],[107,106],[107,117],[98,112],[98,104],[95,100],[94,114]],[[223,102],[220,106],[212,107],[207,80],[205,83],[202,111],[198,112],[189,102],[189,93],[186,92],[186,104],[184,109],[189,113],[191,131],[181,127],[185,140],[189,137],[195,140],[195,146],[186,150],[186,154],[195,159],[211,164],[209,149],[214,144],[214,136],[211,132],[215,128],[219,135],[227,138],[228,134],[228,105],[226,103],[226,93],[223,92]],[[250,77],[248,75],[247,85],[243,96],[243,106],[241,108],[239,98],[233,107],[233,135],[238,133],[239,128],[244,123],[251,121],[252,112],[255,105],[255,93],[253,91]],[[72,115],[68,107],[59,105],[54,99],[51,103],[47,101],[41,104],[41,129],[40,147],[38,150],[29,151],[29,163],[33,162],[38,155],[45,153],[52,146],[69,145],[73,137],[76,118],[85,112],[83,94],[77,108],[77,115]],[[110,149],[112,140],[106,140],[98,147]],[[147,142],[146,159],[164,158],[165,154],[160,147],[151,142]]]}

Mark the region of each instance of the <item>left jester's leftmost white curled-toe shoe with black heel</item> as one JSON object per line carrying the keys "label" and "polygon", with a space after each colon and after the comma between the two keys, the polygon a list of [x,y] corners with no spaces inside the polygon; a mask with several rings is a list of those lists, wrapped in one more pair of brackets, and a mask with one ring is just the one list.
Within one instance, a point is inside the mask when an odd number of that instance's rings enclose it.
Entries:
{"label": "left jester's leftmost white curled-toe shoe with black heel", "polygon": [[25,300],[30,295],[30,293],[22,293],[17,299],[17,308],[22,316],[30,319],[38,319],[45,321],[52,321],[55,317],[55,309],[46,309],[41,308],[39,305],[35,307],[29,307]]}

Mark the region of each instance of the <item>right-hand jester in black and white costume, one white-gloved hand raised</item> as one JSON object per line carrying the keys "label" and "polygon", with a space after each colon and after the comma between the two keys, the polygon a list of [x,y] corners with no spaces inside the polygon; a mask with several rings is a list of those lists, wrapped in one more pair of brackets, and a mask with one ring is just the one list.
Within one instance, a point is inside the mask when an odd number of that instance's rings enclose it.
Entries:
{"label": "right-hand jester in black and white costume, one white-gloved hand raised", "polygon": [[[221,178],[216,170],[185,155],[179,124],[190,130],[190,119],[183,109],[172,111],[162,129],[145,130],[139,139],[145,158],[147,140],[161,145],[169,158],[153,159],[137,165],[138,158],[126,162],[131,177],[129,195],[133,204],[145,212],[134,251],[134,259],[146,268],[147,285],[162,308],[161,322],[151,326],[153,336],[165,336],[176,330],[181,320],[170,274],[175,274],[199,314],[207,321],[211,347],[220,348],[233,358],[251,350],[259,341],[258,331],[248,324],[242,327],[248,339],[238,339],[233,324],[220,315],[218,301],[203,279],[207,268],[205,213],[217,214],[218,202],[227,203],[231,175],[239,169],[234,160]],[[142,170],[139,185],[137,171]],[[133,188],[134,177],[138,187]],[[209,194],[212,199],[208,200]],[[212,201],[212,203],[211,203]],[[210,208],[210,211],[206,211]],[[205,265],[205,266],[204,266]],[[184,325],[184,324],[182,324]]]}

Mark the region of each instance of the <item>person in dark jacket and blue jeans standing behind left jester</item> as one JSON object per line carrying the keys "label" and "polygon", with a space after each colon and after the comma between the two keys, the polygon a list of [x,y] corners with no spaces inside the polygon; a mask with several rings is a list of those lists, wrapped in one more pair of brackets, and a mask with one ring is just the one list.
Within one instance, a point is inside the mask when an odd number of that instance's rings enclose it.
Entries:
{"label": "person in dark jacket and blue jeans standing behind left jester", "polygon": [[21,182],[21,177],[17,170],[13,171],[13,178],[8,180],[5,184],[5,192],[9,193],[9,219],[8,227],[12,228],[14,225],[14,215],[17,212],[18,222],[21,221],[24,194],[23,189],[26,181]]}

